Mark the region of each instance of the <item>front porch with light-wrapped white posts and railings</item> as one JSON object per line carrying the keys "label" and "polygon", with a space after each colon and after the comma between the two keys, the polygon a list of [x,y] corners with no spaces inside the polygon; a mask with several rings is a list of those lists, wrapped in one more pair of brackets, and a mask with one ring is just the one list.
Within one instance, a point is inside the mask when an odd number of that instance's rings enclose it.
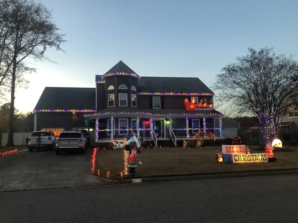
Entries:
{"label": "front porch with light-wrapped white posts and railings", "polygon": [[[212,133],[215,135],[215,139],[224,139],[222,127],[215,128],[214,120],[218,116],[148,117],[146,115],[147,117],[144,117],[144,114],[139,114],[138,116],[113,114],[113,117],[110,114],[110,116],[96,117],[96,147],[113,147],[114,140],[123,142],[123,138],[134,136],[134,134],[137,138],[142,137],[144,142],[155,147],[158,147],[161,141],[169,141],[167,145],[177,146],[177,141],[179,140],[198,140],[193,137],[198,131]],[[209,139],[213,140],[213,138]]]}

